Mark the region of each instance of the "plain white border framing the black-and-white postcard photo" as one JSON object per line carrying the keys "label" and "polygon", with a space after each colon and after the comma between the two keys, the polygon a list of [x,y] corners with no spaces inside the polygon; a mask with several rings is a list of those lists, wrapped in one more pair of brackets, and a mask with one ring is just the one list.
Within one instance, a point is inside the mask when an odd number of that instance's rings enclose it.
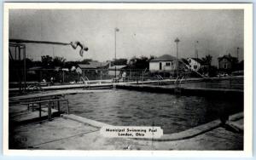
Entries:
{"label": "plain white border framing the black-and-white postcard photo", "polygon": [[[252,157],[253,153],[253,4],[252,3],[4,3],[3,153],[26,156]],[[9,150],[9,9],[244,9],[244,151],[45,151]]]}

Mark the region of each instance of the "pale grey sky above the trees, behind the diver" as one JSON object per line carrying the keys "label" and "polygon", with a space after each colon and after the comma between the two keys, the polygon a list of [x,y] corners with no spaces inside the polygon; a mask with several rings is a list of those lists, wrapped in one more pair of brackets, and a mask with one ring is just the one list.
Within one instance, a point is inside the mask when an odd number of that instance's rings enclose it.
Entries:
{"label": "pale grey sky above the trees, behind the diver", "polygon": [[[198,57],[231,54],[243,60],[244,18],[241,9],[10,9],[9,38],[70,43],[88,46],[84,57],[70,46],[27,44],[27,57],[41,60],[42,55],[67,60],[113,60],[116,33],[117,58],[133,56]],[[196,43],[198,41],[198,43]]]}

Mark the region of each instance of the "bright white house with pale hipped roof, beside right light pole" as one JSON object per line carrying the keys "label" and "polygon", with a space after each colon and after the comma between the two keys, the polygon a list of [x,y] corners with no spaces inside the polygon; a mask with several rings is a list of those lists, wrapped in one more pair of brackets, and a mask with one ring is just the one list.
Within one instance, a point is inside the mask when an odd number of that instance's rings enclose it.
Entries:
{"label": "bright white house with pale hipped roof, beside right light pole", "polygon": [[164,54],[149,61],[149,71],[175,71],[177,68],[176,64],[176,57],[169,54]]}

